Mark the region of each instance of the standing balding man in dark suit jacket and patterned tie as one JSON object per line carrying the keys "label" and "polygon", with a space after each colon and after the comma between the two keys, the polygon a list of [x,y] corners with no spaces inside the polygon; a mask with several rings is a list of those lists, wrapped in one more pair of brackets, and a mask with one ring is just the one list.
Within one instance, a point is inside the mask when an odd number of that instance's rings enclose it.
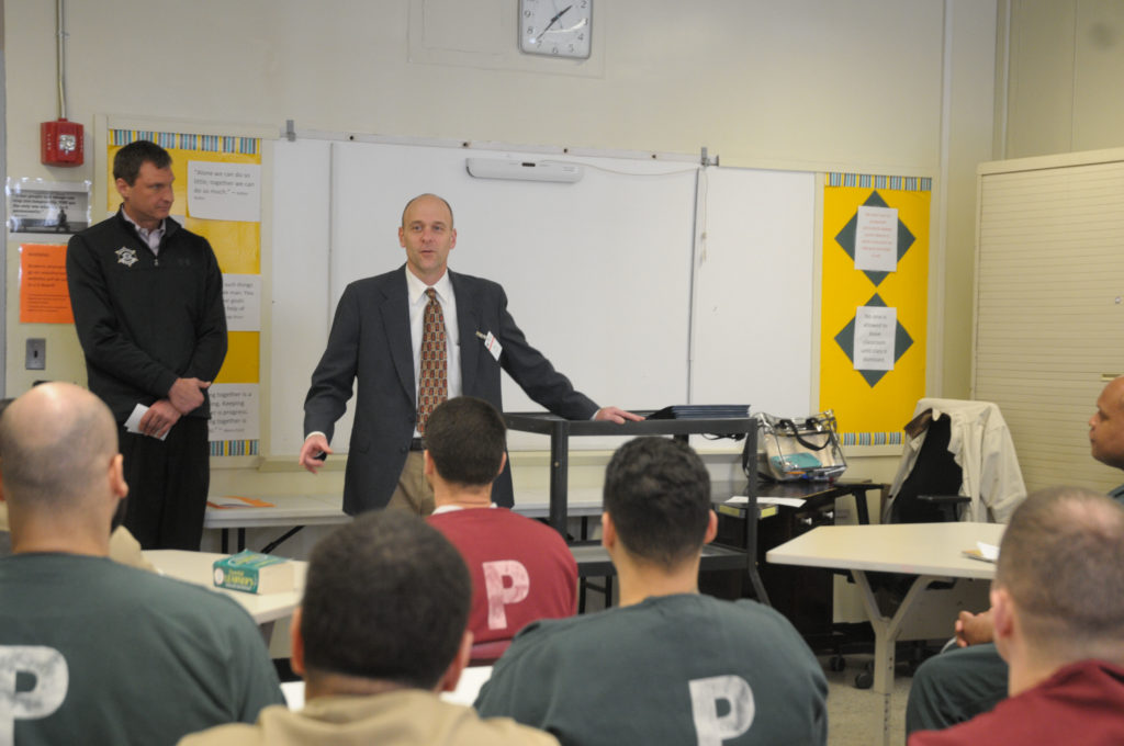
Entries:
{"label": "standing balding man in dark suit jacket and patterned tie", "polygon": [[[453,211],[435,194],[407,203],[399,244],[406,264],[351,283],[336,307],[327,348],[305,399],[300,463],[312,473],[332,453],[336,420],[359,381],[355,418],[344,475],[344,511],[402,508],[428,515],[433,492],[423,474],[417,394],[422,315],[426,290],[436,290],[447,337],[447,395],[479,397],[502,410],[500,370],[533,400],[568,419],[624,422],[636,415],[598,409],[527,344],[507,311],[504,289],[489,280],[447,270],[456,246]],[[424,425],[423,425],[424,427]],[[492,490],[499,506],[514,504],[510,467]]]}

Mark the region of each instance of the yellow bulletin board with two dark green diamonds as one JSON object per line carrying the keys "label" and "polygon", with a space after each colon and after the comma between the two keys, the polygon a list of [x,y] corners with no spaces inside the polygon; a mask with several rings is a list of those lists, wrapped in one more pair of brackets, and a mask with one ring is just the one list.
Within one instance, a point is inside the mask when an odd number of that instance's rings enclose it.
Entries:
{"label": "yellow bulletin board with two dark green diamonds", "polygon": [[[830,173],[825,180],[819,407],[835,411],[844,445],[900,444],[925,395],[931,193],[927,178]],[[894,271],[855,269],[864,207],[897,211]],[[862,307],[896,311],[890,370],[860,367]]]}

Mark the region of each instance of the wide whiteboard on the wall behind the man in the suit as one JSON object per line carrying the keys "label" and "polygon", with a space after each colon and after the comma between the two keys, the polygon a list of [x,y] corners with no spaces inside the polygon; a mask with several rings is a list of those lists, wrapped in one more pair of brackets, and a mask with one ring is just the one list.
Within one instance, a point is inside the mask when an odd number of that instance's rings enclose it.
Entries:
{"label": "wide whiteboard on the wall behind the man in the suit", "polygon": [[[586,167],[572,184],[486,180],[468,174],[470,156]],[[274,143],[273,162],[270,455],[300,449],[303,399],[335,303],[347,283],[404,263],[401,210],[423,192],[452,204],[450,267],[502,284],[528,340],[598,403],[769,402],[780,412],[810,403],[812,174],[700,175],[689,163],[608,155],[315,139]],[[792,344],[767,363],[760,319],[779,313]],[[504,404],[541,409],[507,376]],[[351,410],[336,427],[337,452]],[[509,446],[546,442],[511,434]]]}

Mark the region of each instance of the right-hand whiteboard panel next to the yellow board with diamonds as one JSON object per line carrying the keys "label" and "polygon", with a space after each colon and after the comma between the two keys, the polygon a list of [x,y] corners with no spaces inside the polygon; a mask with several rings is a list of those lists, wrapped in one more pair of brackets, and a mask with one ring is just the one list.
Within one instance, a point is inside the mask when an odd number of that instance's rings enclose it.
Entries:
{"label": "right-hand whiteboard panel next to the yellow board with diamonds", "polygon": [[809,413],[815,188],[805,172],[700,175],[691,402]]}

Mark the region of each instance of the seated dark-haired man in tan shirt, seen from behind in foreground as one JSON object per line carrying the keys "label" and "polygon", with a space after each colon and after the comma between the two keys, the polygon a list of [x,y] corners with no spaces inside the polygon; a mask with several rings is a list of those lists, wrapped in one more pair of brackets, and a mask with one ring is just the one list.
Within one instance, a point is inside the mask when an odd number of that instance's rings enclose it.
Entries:
{"label": "seated dark-haired man in tan shirt, seen from behind in foreground", "polygon": [[481,720],[437,695],[469,661],[471,590],[456,549],[416,516],[364,513],[321,539],[292,620],[305,709],[212,728],[181,746],[550,746],[507,719]]}

